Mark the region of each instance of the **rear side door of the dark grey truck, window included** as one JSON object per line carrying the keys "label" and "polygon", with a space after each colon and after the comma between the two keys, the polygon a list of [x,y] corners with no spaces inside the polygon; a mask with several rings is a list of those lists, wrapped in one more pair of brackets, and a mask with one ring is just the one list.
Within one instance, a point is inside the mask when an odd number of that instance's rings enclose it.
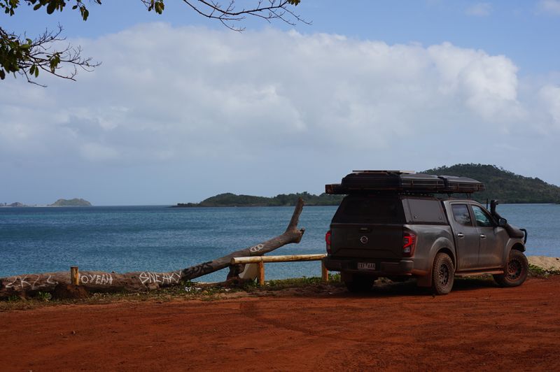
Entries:
{"label": "rear side door of the dark grey truck, window included", "polygon": [[466,203],[451,203],[451,228],[457,252],[456,271],[473,270],[478,266],[479,232],[473,224]]}

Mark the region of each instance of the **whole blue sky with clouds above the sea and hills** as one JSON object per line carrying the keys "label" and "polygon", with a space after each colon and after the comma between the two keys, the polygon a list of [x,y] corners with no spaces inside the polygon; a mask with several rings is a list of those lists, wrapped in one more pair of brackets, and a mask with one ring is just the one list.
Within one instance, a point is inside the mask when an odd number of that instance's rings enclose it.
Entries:
{"label": "whole blue sky with clouds above the sea and hills", "polygon": [[[252,1],[237,1],[239,7]],[[20,6],[102,62],[0,82],[0,202],[197,202],[324,191],[353,169],[495,164],[560,185],[560,0],[302,0],[244,32],[182,1]]]}

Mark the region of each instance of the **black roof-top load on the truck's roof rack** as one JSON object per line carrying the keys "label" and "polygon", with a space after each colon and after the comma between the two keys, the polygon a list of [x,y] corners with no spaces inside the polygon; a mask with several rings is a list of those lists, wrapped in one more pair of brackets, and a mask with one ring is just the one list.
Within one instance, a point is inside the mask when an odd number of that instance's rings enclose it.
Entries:
{"label": "black roof-top load on the truck's roof rack", "polygon": [[353,171],[342,183],[325,185],[327,194],[351,194],[367,191],[417,193],[472,193],[484,191],[484,184],[466,177],[435,176],[408,171]]}

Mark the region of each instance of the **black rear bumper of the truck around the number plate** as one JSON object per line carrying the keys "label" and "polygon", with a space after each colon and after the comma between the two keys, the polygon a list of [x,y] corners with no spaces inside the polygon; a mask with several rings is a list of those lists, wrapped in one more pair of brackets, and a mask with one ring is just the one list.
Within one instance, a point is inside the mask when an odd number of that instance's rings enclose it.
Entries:
{"label": "black rear bumper of the truck around the number plate", "polygon": [[[332,258],[323,259],[329,271],[344,271],[346,273],[362,273],[372,276],[408,275],[415,273],[414,260],[401,259],[400,261],[386,261],[383,259],[355,259]],[[375,264],[375,269],[358,269],[358,263]]]}

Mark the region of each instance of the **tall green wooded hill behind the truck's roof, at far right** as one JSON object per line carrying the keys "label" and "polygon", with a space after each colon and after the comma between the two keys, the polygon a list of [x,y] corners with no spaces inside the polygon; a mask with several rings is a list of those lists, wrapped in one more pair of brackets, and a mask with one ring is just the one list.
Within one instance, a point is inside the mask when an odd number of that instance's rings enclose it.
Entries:
{"label": "tall green wooded hill behind the truck's roof, at far right", "polygon": [[473,199],[499,199],[500,203],[560,203],[560,187],[539,178],[518,174],[488,164],[456,164],[440,166],[421,173],[437,176],[463,176],[484,183],[486,191],[477,192]]}

